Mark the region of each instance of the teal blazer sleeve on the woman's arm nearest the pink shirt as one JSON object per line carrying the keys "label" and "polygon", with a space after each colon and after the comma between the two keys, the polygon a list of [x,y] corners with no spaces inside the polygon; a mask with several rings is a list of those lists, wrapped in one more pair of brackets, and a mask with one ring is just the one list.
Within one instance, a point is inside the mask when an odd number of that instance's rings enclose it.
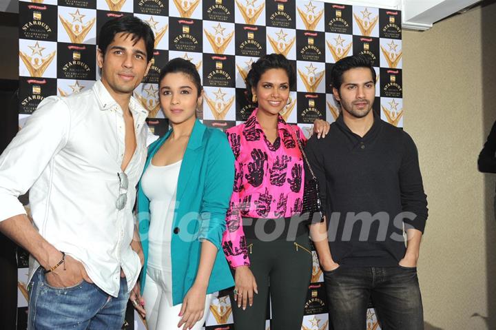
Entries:
{"label": "teal blazer sleeve on the woman's arm nearest the pink shirt", "polygon": [[220,131],[213,131],[208,150],[208,169],[205,178],[200,216],[199,240],[209,240],[217,249],[226,228],[226,212],[234,184],[234,155],[227,138]]}

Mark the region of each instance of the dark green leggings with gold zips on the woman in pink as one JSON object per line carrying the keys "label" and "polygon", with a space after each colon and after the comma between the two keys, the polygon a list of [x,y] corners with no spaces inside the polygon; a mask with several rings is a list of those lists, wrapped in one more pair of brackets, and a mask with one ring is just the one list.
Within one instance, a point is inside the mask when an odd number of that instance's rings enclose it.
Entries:
{"label": "dark green leggings with gold zips on the woman in pink", "polygon": [[254,295],[253,306],[243,311],[234,301],[233,291],[229,293],[235,329],[265,330],[270,293],[271,330],[300,330],[312,272],[308,232],[291,242],[247,238],[247,246],[258,294]]}

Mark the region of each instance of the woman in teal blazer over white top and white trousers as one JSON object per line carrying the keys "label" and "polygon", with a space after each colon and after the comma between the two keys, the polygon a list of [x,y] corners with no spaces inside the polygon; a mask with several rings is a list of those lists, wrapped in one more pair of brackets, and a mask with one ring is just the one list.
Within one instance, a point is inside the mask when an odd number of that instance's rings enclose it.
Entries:
{"label": "woman in teal blazer over white top and white trousers", "polygon": [[[149,146],[138,185],[145,264],[143,298],[135,288],[132,296],[137,293],[138,300],[133,305],[142,312],[145,307],[150,330],[177,329],[183,324],[183,329],[200,329],[209,311],[210,293],[234,286],[220,248],[234,183],[234,155],[223,132],[195,117],[203,90],[192,63],[169,61],[159,81],[161,107],[172,130]],[[162,245],[152,237],[163,237],[165,252],[157,250]],[[152,263],[160,265],[158,270]]]}

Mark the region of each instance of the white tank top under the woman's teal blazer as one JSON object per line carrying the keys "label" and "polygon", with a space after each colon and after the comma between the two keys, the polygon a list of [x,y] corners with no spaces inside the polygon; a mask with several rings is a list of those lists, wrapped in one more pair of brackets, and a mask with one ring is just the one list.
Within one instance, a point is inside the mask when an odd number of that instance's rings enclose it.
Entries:
{"label": "white tank top under the woman's teal blazer", "polygon": [[170,243],[181,163],[155,166],[150,162],[141,178],[141,187],[150,201],[148,265],[155,269],[172,269]]}

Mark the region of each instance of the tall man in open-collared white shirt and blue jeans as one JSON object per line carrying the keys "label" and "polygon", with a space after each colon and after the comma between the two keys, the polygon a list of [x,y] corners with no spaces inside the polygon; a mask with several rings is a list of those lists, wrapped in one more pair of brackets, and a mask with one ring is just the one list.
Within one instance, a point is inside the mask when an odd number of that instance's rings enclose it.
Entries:
{"label": "tall man in open-collared white shirt and blue jeans", "polygon": [[[0,156],[0,231],[31,254],[28,329],[122,327],[143,264],[132,207],[147,111],[132,92],[153,48],[140,19],[105,23],[101,81],[43,100]],[[17,199],[28,189],[34,224]]]}

